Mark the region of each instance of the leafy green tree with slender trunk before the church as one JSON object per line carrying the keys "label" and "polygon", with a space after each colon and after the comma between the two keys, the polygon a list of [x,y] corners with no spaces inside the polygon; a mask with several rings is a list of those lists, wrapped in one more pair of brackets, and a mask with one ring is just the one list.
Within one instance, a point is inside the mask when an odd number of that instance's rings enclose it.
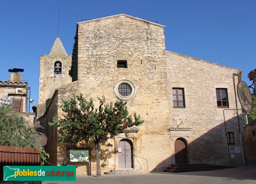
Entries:
{"label": "leafy green tree with slender trunk before the church", "polygon": [[111,102],[106,103],[105,97],[100,101],[99,109],[94,108],[93,100],[86,101],[82,94],[73,96],[70,100],[62,100],[63,104],[58,105],[63,111],[63,117],[54,117],[53,123],[60,128],[59,137],[61,141],[72,139],[74,142],[88,140],[94,142],[96,149],[97,177],[100,177],[100,152],[99,143],[108,134],[116,136],[132,126],[139,126],[143,123],[140,115],[137,117],[134,112],[134,121],[126,107],[126,102],[116,101],[113,106]]}

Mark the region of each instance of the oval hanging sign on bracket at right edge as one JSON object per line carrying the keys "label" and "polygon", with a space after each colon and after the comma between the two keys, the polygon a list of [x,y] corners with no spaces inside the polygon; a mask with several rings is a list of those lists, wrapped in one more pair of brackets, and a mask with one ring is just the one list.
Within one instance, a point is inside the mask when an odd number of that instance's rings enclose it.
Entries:
{"label": "oval hanging sign on bracket at right edge", "polygon": [[237,84],[237,95],[242,108],[246,112],[252,110],[252,94],[248,85],[244,81],[240,81]]}

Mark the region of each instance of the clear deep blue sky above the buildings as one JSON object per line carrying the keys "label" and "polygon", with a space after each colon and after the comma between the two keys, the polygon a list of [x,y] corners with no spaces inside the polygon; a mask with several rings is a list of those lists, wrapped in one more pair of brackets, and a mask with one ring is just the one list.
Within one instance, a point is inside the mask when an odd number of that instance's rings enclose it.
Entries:
{"label": "clear deep blue sky above the buildings", "polygon": [[0,81],[9,80],[8,69],[23,68],[34,104],[40,55],[49,54],[58,36],[59,4],[59,37],[68,55],[77,22],[124,13],[165,25],[168,51],[242,69],[242,80],[252,84],[255,0],[0,0]]}

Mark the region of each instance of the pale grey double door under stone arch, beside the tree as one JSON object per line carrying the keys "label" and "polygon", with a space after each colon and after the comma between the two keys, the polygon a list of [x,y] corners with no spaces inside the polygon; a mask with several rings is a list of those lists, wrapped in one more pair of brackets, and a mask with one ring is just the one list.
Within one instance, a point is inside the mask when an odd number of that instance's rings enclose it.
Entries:
{"label": "pale grey double door under stone arch, beside the tree", "polygon": [[118,167],[132,168],[132,141],[129,139],[122,139],[118,143]]}

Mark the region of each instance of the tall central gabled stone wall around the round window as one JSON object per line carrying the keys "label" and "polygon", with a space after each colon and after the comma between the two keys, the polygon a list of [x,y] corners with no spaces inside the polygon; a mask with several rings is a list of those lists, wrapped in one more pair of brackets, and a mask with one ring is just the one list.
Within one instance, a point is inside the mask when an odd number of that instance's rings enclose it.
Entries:
{"label": "tall central gabled stone wall around the round window", "polygon": [[[83,93],[86,99],[92,97],[96,104],[96,97],[102,95],[108,103],[115,102],[115,85],[122,80],[130,81],[136,94],[127,100],[127,107],[129,112],[140,114],[144,124],[128,138],[134,142],[134,154],[148,159],[149,171],[154,170],[171,153],[164,26],[116,16],[78,23],[77,35],[77,93]],[[126,60],[127,68],[117,68],[117,60]],[[108,147],[109,152],[123,136],[119,135],[116,143],[108,140],[113,145]],[[144,161],[141,164],[145,170],[147,165]],[[104,167],[108,171],[118,168],[114,154],[104,162]]]}

